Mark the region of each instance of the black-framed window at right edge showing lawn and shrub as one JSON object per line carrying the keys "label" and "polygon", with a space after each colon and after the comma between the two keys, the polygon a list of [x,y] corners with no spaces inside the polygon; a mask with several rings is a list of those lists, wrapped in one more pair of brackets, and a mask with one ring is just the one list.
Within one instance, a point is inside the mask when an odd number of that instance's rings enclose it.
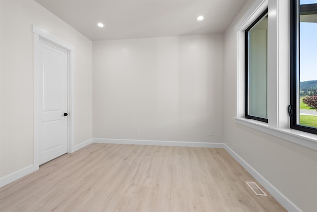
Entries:
{"label": "black-framed window at right edge showing lawn and shrub", "polygon": [[317,134],[317,0],[291,0],[290,62],[290,127]]}

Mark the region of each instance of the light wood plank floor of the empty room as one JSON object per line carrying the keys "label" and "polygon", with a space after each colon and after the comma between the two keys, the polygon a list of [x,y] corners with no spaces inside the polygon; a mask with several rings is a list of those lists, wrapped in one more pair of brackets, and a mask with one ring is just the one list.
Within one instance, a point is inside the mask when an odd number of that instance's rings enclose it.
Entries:
{"label": "light wood plank floor of the empty room", "polygon": [[286,211],[245,181],[224,149],[93,143],[2,187],[0,211]]}

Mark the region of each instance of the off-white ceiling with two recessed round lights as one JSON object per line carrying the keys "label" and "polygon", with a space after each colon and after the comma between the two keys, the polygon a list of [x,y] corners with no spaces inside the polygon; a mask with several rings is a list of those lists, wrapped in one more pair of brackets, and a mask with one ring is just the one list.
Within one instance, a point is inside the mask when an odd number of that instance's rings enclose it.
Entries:
{"label": "off-white ceiling with two recessed round lights", "polygon": [[[223,33],[246,0],[35,0],[92,41]],[[197,16],[204,20],[198,21]],[[97,26],[98,22],[105,27]]]}

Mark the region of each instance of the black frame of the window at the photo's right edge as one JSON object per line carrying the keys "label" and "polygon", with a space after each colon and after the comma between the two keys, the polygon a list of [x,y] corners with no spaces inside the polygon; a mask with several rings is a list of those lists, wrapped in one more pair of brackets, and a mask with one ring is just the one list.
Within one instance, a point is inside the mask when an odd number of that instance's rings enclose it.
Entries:
{"label": "black frame of the window at the photo's right edge", "polygon": [[297,116],[300,108],[298,107],[298,97],[299,97],[299,83],[297,81],[299,64],[300,64],[300,41],[299,41],[299,16],[302,9],[309,9],[307,13],[312,14],[312,12],[317,13],[317,3],[314,4],[304,4],[300,6],[299,0],[290,0],[290,128],[317,134],[317,128],[312,128],[308,126],[303,126],[297,124]]}

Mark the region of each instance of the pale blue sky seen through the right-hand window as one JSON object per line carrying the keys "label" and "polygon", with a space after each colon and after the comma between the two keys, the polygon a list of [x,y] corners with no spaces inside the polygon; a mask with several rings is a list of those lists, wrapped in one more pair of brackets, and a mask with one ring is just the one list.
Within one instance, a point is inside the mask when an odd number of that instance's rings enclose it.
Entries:
{"label": "pale blue sky seen through the right-hand window", "polygon": [[[301,4],[317,0],[300,0]],[[300,81],[317,80],[317,23],[300,23]]]}

